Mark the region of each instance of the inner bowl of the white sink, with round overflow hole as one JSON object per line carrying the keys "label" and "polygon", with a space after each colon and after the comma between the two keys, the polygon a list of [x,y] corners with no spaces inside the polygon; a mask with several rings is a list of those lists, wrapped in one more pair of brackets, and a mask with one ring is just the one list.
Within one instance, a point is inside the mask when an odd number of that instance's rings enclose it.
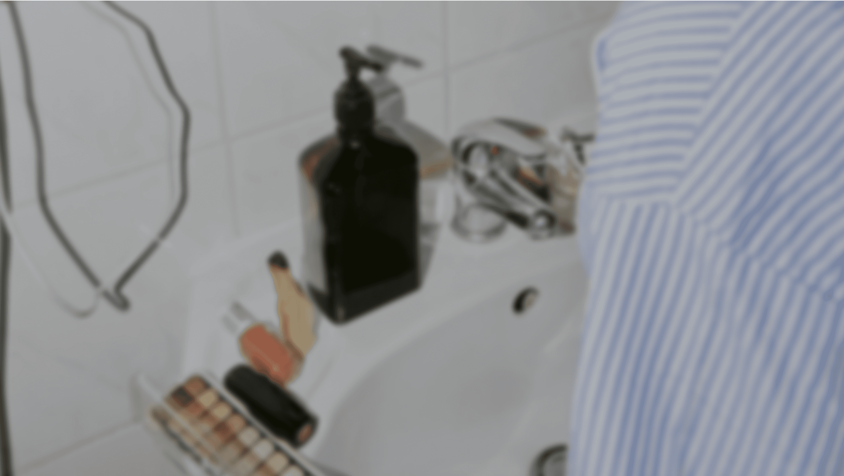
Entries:
{"label": "inner bowl of the white sink, with round overflow hole", "polygon": [[[341,398],[327,395],[336,409],[307,453],[349,476],[503,476],[527,474],[540,450],[566,441],[582,275],[559,266],[495,281],[382,355]],[[540,297],[517,316],[525,286]],[[315,399],[333,392],[327,382]]]}

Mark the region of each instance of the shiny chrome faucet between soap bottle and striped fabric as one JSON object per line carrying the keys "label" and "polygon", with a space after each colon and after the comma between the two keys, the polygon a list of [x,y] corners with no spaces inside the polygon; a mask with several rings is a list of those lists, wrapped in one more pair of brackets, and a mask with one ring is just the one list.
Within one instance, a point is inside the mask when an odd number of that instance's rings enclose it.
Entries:
{"label": "shiny chrome faucet between soap bottle and striped fabric", "polygon": [[487,241],[506,222],[534,239],[573,233],[577,190],[591,136],[568,131],[563,148],[542,127],[491,119],[463,127],[452,141],[457,211],[452,228]]}

